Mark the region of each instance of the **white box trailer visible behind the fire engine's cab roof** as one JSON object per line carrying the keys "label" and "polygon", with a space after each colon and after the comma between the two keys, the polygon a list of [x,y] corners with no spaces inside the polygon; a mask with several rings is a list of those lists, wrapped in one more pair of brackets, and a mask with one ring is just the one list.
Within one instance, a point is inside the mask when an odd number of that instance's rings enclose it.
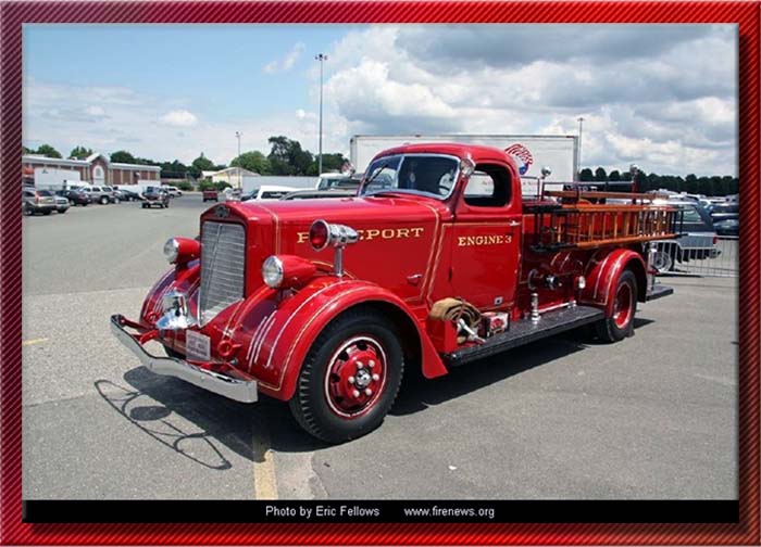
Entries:
{"label": "white box trailer visible behind the fire engine's cab roof", "polygon": [[354,135],[349,154],[357,173],[364,173],[378,152],[414,142],[463,142],[484,144],[511,153],[521,175],[537,178],[542,167],[550,167],[548,180],[576,180],[578,137],[575,135]]}

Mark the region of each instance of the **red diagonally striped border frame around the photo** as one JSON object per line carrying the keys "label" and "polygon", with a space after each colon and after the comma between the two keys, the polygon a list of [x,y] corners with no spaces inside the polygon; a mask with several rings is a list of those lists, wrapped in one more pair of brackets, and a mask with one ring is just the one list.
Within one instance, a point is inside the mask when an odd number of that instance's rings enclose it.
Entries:
{"label": "red diagonally striped border frame around the photo", "polygon": [[[756,544],[759,536],[759,24],[744,2],[4,2],[0,5],[0,543]],[[23,524],[21,522],[21,29],[23,23],[736,23],[739,26],[738,524]]]}

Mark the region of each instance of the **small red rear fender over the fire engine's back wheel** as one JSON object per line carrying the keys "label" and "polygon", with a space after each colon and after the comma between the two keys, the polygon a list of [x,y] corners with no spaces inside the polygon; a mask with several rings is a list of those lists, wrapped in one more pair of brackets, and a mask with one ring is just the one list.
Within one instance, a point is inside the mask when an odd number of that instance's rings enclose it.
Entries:
{"label": "small red rear fender over the fire engine's back wheel", "polygon": [[595,256],[586,272],[586,288],[582,292],[581,303],[597,306],[606,315],[613,313],[613,298],[619,276],[625,269],[632,269],[637,279],[637,300],[645,302],[647,278],[645,260],[639,253],[631,249],[615,249],[608,254]]}

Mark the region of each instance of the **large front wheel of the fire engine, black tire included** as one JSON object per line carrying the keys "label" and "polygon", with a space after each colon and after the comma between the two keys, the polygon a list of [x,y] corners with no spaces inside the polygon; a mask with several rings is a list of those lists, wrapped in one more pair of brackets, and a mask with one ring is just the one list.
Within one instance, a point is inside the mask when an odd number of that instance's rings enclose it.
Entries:
{"label": "large front wheel of the fire engine, black tire included", "polygon": [[[375,355],[378,361],[362,357],[367,355]],[[373,370],[380,374],[371,376]],[[325,327],[312,344],[289,402],[290,411],[309,434],[327,443],[360,437],[383,423],[403,373],[404,355],[394,325],[372,310],[347,311]],[[379,385],[376,392],[372,392],[373,385]],[[352,386],[358,389],[352,395],[339,396],[349,394]],[[357,395],[359,390],[362,393]],[[371,395],[366,395],[367,390]],[[359,397],[357,402],[352,396]],[[359,406],[352,409],[352,404]]]}

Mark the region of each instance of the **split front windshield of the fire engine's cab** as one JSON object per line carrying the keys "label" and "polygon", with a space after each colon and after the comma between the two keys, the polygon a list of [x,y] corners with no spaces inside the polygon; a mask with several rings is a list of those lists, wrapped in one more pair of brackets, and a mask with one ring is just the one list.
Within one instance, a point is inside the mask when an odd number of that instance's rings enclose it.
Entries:
{"label": "split front windshield of the fire engine's cab", "polygon": [[410,192],[444,200],[454,188],[459,165],[457,157],[434,154],[380,157],[365,171],[360,195]]}

